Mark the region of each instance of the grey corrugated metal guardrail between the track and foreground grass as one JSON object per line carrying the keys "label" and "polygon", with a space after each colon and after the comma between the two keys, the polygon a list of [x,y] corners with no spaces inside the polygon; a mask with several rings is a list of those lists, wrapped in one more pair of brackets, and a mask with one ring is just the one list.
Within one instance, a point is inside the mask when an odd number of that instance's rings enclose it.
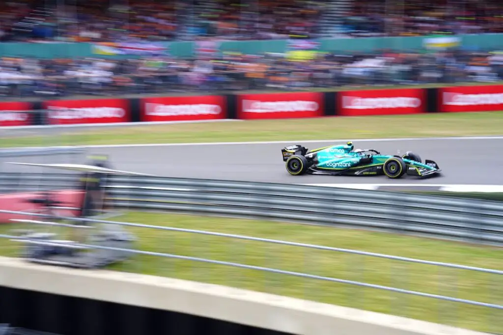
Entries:
{"label": "grey corrugated metal guardrail between the track and foreground grass", "polygon": [[[503,207],[496,201],[190,178],[110,180],[107,203],[116,208],[294,221],[503,246]],[[68,189],[75,182],[69,175],[2,174],[0,192],[50,190],[54,185]]]}

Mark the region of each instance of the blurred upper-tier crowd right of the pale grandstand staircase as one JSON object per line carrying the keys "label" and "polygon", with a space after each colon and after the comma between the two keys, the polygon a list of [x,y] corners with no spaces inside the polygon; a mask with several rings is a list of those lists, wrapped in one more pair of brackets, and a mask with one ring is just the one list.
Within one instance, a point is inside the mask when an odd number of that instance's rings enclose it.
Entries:
{"label": "blurred upper-tier crowd right of the pale grandstand staircase", "polygon": [[367,0],[353,2],[343,27],[353,36],[501,33],[503,6],[498,0]]}

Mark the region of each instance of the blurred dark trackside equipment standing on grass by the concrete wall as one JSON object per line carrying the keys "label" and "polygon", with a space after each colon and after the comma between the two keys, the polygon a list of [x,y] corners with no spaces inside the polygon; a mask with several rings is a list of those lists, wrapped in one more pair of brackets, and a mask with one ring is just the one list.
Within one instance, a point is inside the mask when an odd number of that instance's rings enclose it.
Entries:
{"label": "blurred dark trackside equipment standing on grass by the concrete wall", "polygon": [[[100,268],[127,259],[131,253],[117,250],[97,249],[97,247],[133,249],[135,237],[122,227],[102,223],[93,226],[86,218],[103,217],[105,210],[105,186],[110,174],[136,174],[109,168],[108,157],[93,157],[88,164],[37,164],[10,163],[40,166],[69,171],[78,171],[78,189],[71,190],[71,196],[62,191],[44,191],[37,197],[28,197],[26,204],[37,205],[39,214],[29,217],[11,218],[10,221],[25,224],[35,229],[17,229],[15,242],[25,244],[22,257],[30,262],[75,268]],[[65,196],[65,194],[67,196]],[[61,214],[64,213],[64,214]],[[35,215],[33,215],[35,216]],[[38,219],[37,219],[38,218]],[[72,219],[70,219],[72,218]],[[75,219],[82,218],[82,220]],[[65,232],[66,231],[66,232]],[[62,238],[68,233],[67,239]]]}

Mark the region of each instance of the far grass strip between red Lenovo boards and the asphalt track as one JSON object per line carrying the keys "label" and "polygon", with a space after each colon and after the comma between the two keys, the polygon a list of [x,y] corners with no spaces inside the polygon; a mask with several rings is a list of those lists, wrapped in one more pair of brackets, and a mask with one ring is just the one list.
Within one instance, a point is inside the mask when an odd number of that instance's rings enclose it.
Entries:
{"label": "far grass strip between red Lenovo boards and the asphalt track", "polygon": [[54,132],[48,131],[44,135],[31,130],[4,129],[0,133],[0,147],[495,136],[501,135],[502,129],[503,111],[322,117],[99,129],[58,129]]}

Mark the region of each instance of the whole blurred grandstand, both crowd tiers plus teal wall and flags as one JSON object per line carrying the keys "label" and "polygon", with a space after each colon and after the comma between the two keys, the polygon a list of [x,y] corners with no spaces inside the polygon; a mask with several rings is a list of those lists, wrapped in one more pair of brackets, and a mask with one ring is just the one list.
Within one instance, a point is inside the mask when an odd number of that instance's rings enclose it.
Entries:
{"label": "whole blurred grandstand, both crowd tiers plus teal wall and flags", "polygon": [[496,0],[22,0],[0,17],[4,100],[503,80]]}

